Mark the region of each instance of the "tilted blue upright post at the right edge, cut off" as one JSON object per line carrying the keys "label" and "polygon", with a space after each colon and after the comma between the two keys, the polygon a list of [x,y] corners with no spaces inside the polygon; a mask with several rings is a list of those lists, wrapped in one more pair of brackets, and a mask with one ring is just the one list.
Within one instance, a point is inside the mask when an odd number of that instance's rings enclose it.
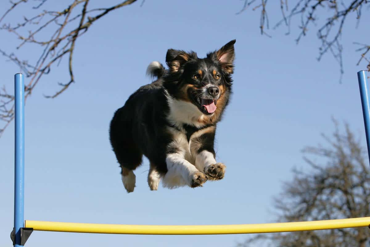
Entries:
{"label": "tilted blue upright post at the right edge, cut off", "polygon": [[365,133],[366,133],[366,144],[367,154],[369,155],[370,162],[370,107],[369,107],[369,89],[366,82],[366,71],[361,70],[357,72],[357,78],[359,79],[360,96],[362,104],[362,113],[364,116]]}

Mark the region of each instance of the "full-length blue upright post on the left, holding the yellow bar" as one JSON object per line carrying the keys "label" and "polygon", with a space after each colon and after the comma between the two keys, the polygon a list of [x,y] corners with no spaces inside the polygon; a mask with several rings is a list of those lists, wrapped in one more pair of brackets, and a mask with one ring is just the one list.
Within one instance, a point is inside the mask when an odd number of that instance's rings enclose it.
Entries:
{"label": "full-length blue upright post on the left, holding the yellow bar", "polygon": [[24,223],[24,75],[15,74],[15,164],[14,164],[14,246],[21,246]]}

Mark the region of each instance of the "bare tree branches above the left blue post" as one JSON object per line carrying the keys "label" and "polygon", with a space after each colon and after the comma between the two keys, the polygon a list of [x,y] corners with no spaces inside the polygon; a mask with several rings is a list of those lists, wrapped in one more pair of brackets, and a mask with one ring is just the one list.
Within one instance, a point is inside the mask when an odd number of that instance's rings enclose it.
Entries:
{"label": "bare tree branches above the left blue post", "polygon": [[[69,80],[64,83],[59,82],[60,90],[46,97],[54,98],[63,93],[74,83],[72,60],[77,39],[85,34],[90,26],[101,17],[135,1],[137,0],[125,0],[114,6],[91,9],[89,8],[90,0],[70,0],[70,5],[66,4],[65,8],[59,10],[43,10],[47,0],[10,1],[9,9],[0,16],[0,31],[8,31],[20,40],[16,47],[17,50],[26,44],[36,44],[42,47],[35,62],[28,62],[28,60],[23,60],[16,54],[7,53],[0,48],[0,54],[19,65],[25,76],[30,78],[25,87],[26,99],[40,78],[48,74],[52,67],[57,66],[63,57],[67,57]],[[15,25],[7,23],[6,17],[21,4],[28,4],[30,9],[37,11],[37,14],[31,17],[24,16]],[[104,5],[104,1],[102,1],[102,5]],[[14,95],[8,93],[3,87],[0,90],[0,120],[5,124],[0,127],[0,136],[13,119]]]}

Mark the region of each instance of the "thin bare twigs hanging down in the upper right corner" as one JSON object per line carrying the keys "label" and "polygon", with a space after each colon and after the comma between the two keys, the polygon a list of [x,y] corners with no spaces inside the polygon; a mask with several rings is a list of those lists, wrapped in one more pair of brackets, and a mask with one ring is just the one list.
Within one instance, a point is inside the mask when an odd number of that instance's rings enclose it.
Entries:
{"label": "thin bare twigs hanging down in the upper right corner", "polygon": [[[291,10],[289,10],[288,3],[292,3],[293,7]],[[370,9],[370,4],[366,6],[368,3],[370,3],[369,0],[280,0],[282,19],[273,26],[273,29],[285,25],[287,27],[286,34],[290,34],[292,25],[297,24],[300,30],[296,38],[297,43],[303,36],[306,36],[309,30],[316,30],[317,38],[321,41],[317,59],[320,61],[326,53],[331,53],[339,64],[342,78],[343,46],[340,38],[344,23],[347,18],[355,18],[358,26],[362,10]],[[243,13],[249,7],[252,10],[260,10],[259,28],[261,34],[271,37],[266,32],[266,29],[269,29],[267,5],[268,0],[244,0],[244,6],[237,14]],[[320,16],[324,18],[319,18]],[[358,47],[356,51],[360,52],[357,65],[364,61],[366,65],[364,64],[363,68],[370,71],[370,44],[357,42],[354,42],[354,44]]]}

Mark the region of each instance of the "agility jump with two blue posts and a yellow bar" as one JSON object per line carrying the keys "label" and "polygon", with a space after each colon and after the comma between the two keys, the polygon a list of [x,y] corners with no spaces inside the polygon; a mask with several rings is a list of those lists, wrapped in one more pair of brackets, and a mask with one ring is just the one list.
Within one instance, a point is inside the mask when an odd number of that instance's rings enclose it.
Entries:
{"label": "agility jump with two blue posts and a yellow bar", "polygon": [[[367,151],[370,159],[370,107],[366,72],[357,73],[361,104],[366,131]],[[370,217],[338,220],[303,221],[268,224],[237,225],[118,225],[87,224],[50,221],[24,221],[24,75],[16,74],[15,79],[15,173],[14,173],[14,228],[11,233],[13,245],[23,246],[32,231],[61,231],[73,233],[106,234],[150,234],[150,235],[205,235],[205,234],[245,234],[275,233],[286,231],[312,231],[370,225]]]}

